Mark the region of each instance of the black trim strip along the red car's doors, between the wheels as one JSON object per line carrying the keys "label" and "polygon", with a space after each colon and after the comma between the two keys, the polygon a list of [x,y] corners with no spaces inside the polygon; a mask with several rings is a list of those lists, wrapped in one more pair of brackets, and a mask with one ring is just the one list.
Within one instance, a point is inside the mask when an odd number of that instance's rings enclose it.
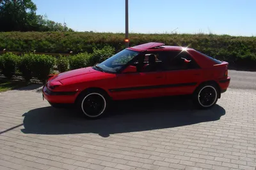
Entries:
{"label": "black trim strip along the red car's doors, between the wheels", "polygon": [[125,87],[125,88],[118,88],[118,89],[109,89],[109,92],[124,92],[124,91],[131,91],[131,90],[148,90],[148,89],[161,89],[161,88],[168,88],[168,87],[186,87],[186,86],[195,86],[197,83],[179,83],[179,84],[169,84],[169,85],[151,85],[151,86],[140,86],[140,87]]}

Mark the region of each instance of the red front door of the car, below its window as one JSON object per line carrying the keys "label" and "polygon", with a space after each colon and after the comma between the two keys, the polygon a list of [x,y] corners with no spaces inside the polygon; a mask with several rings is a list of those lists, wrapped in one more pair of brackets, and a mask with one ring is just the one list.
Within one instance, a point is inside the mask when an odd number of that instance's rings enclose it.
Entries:
{"label": "red front door of the car, below its window", "polygon": [[[145,64],[147,64],[147,60],[145,60]],[[111,89],[116,99],[136,99],[164,95],[166,73],[161,69],[148,72],[141,70],[136,73],[120,73],[116,74],[116,78],[117,87]]]}

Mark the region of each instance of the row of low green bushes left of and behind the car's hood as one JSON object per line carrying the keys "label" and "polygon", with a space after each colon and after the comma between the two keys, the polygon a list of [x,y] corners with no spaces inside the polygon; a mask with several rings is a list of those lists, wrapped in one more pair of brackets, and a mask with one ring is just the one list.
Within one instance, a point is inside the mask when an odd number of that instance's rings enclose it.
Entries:
{"label": "row of low green bushes left of and behind the car's hood", "polygon": [[65,72],[70,69],[93,66],[97,62],[111,57],[115,53],[115,48],[104,46],[102,49],[93,48],[92,53],[78,53],[70,56],[39,55],[35,53],[24,53],[15,55],[4,53],[0,55],[0,71],[6,78],[12,78],[16,73],[20,73],[26,81],[37,78],[45,83],[49,74],[53,73],[54,66],[58,71]]}

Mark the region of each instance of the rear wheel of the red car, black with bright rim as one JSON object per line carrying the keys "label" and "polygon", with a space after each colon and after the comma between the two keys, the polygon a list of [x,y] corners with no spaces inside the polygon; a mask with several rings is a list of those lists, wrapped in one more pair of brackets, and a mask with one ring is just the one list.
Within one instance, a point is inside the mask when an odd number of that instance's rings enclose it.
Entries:
{"label": "rear wheel of the red car, black with bright rim", "polygon": [[193,94],[193,103],[196,108],[209,109],[218,101],[218,88],[213,83],[200,85]]}

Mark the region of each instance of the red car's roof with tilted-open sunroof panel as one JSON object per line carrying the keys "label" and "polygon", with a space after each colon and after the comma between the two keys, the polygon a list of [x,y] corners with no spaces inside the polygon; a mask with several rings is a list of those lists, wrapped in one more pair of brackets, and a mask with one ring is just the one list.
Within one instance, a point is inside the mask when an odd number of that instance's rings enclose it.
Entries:
{"label": "red car's roof with tilted-open sunroof panel", "polygon": [[164,49],[164,50],[193,50],[191,48],[183,47],[183,46],[170,46],[170,45],[165,45],[164,43],[156,43],[156,42],[150,42],[150,43],[145,43],[141,45],[136,45],[129,47],[128,49],[130,50],[135,50],[138,52],[143,52],[148,49]]}

